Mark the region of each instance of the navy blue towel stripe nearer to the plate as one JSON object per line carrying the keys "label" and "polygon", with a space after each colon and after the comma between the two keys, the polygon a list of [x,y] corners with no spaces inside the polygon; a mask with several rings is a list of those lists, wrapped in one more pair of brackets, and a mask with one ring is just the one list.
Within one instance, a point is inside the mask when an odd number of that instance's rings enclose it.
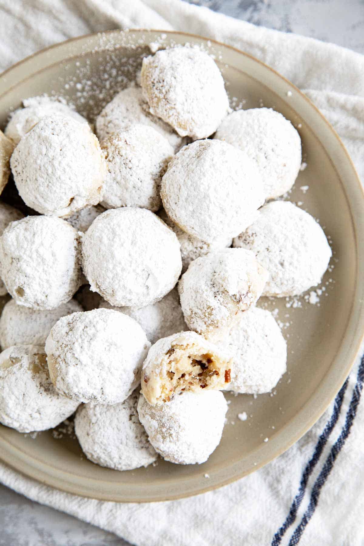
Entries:
{"label": "navy blue towel stripe nearer to the plate", "polygon": [[282,537],[284,536],[284,533],[287,531],[288,527],[293,524],[294,520],[296,519],[297,511],[301,505],[301,502],[303,500],[303,497],[305,496],[305,490],[308,482],[308,478],[311,476],[315,466],[317,465],[321,453],[324,450],[324,447],[326,445],[327,440],[329,439],[329,436],[335,427],[337,420],[339,418],[339,414],[341,411],[341,406],[343,403],[345,391],[348,388],[348,379],[343,384],[342,388],[339,390],[339,393],[336,396],[332,415],[330,419],[327,421],[324,431],[321,433],[319,440],[316,444],[314,453],[312,455],[311,460],[307,463],[305,470],[303,471],[299,492],[294,498],[293,503],[291,504],[289,514],[284,521],[284,524],[282,527],[276,532],[275,536],[273,537],[271,546],[278,546],[281,544]]}

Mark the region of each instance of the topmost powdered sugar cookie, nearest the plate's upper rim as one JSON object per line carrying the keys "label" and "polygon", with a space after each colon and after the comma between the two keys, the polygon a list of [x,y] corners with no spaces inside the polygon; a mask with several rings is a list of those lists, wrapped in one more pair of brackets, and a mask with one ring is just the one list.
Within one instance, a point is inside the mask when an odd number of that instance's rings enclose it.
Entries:
{"label": "topmost powdered sugar cookie, nearest the plate's upper rim", "polygon": [[230,111],[223,76],[199,49],[177,47],[145,57],[140,82],[151,114],[193,140],[214,133]]}

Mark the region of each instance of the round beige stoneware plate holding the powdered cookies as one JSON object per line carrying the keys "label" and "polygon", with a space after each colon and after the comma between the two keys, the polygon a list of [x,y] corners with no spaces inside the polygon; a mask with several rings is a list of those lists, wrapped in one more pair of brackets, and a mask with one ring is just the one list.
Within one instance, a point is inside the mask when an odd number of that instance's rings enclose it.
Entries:
{"label": "round beige stoneware plate holding the powdered cookies", "polygon": [[[0,123],[21,100],[56,93],[75,102],[92,120],[112,95],[135,77],[146,44],[160,32],[113,31],[77,38],[27,58],[0,77]],[[162,501],[195,495],[232,482],[288,449],[321,416],[347,377],[364,331],[363,193],[341,141],[309,100],[279,74],[236,49],[181,33],[166,32],[163,44],[204,44],[223,72],[230,97],[244,108],[272,106],[297,127],[308,167],[290,195],[319,218],[332,238],[334,269],[323,286],[320,306],[304,299],[287,308],[285,299],[264,302],[289,322],[288,373],[273,395],[231,396],[222,441],[203,465],[117,472],[81,457],[76,440],[37,438],[0,428],[1,458],[16,470],[77,495],[111,501]],[[288,92],[291,96],[288,96]],[[299,125],[300,124],[300,125]],[[301,186],[309,186],[305,194]],[[324,293],[324,294],[325,294]],[[289,314],[289,317],[287,317]],[[241,422],[237,413],[246,411]],[[202,419],[202,416],[196,416]],[[235,422],[235,424],[232,424]],[[272,427],[275,427],[274,429]],[[268,437],[269,441],[264,442]],[[210,478],[206,479],[204,474]]]}

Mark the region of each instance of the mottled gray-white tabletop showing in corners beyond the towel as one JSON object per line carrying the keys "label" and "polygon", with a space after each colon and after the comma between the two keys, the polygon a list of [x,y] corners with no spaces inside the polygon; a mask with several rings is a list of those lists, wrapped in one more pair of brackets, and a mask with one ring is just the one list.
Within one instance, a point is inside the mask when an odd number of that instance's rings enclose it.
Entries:
{"label": "mottled gray-white tabletop showing in corners beyond the towel", "polygon": [[[364,54],[364,0],[190,0],[256,25],[331,41]],[[124,546],[97,527],[0,485],[0,546]]]}

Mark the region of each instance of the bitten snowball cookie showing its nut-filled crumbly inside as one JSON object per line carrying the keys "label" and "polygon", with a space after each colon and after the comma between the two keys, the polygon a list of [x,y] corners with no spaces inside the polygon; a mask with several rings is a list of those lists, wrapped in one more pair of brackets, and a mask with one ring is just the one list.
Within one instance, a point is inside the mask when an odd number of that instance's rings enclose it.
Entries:
{"label": "bitten snowball cookie showing its nut-filled crumbly inside", "polygon": [[224,389],[231,359],[195,332],[180,332],[151,347],[141,371],[141,391],[152,405],[169,402],[182,391]]}

